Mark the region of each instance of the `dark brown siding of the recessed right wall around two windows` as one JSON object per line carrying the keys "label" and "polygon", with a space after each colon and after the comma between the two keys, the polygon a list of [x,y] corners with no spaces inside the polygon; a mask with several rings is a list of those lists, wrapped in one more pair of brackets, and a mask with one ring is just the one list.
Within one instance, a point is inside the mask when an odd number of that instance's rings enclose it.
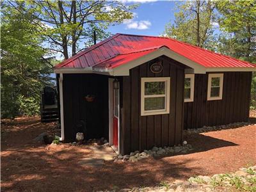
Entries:
{"label": "dark brown siding of the recessed right wall around two windows", "polygon": [[252,72],[223,74],[222,100],[207,100],[208,74],[195,74],[194,102],[184,103],[184,129],[248,120]]}

